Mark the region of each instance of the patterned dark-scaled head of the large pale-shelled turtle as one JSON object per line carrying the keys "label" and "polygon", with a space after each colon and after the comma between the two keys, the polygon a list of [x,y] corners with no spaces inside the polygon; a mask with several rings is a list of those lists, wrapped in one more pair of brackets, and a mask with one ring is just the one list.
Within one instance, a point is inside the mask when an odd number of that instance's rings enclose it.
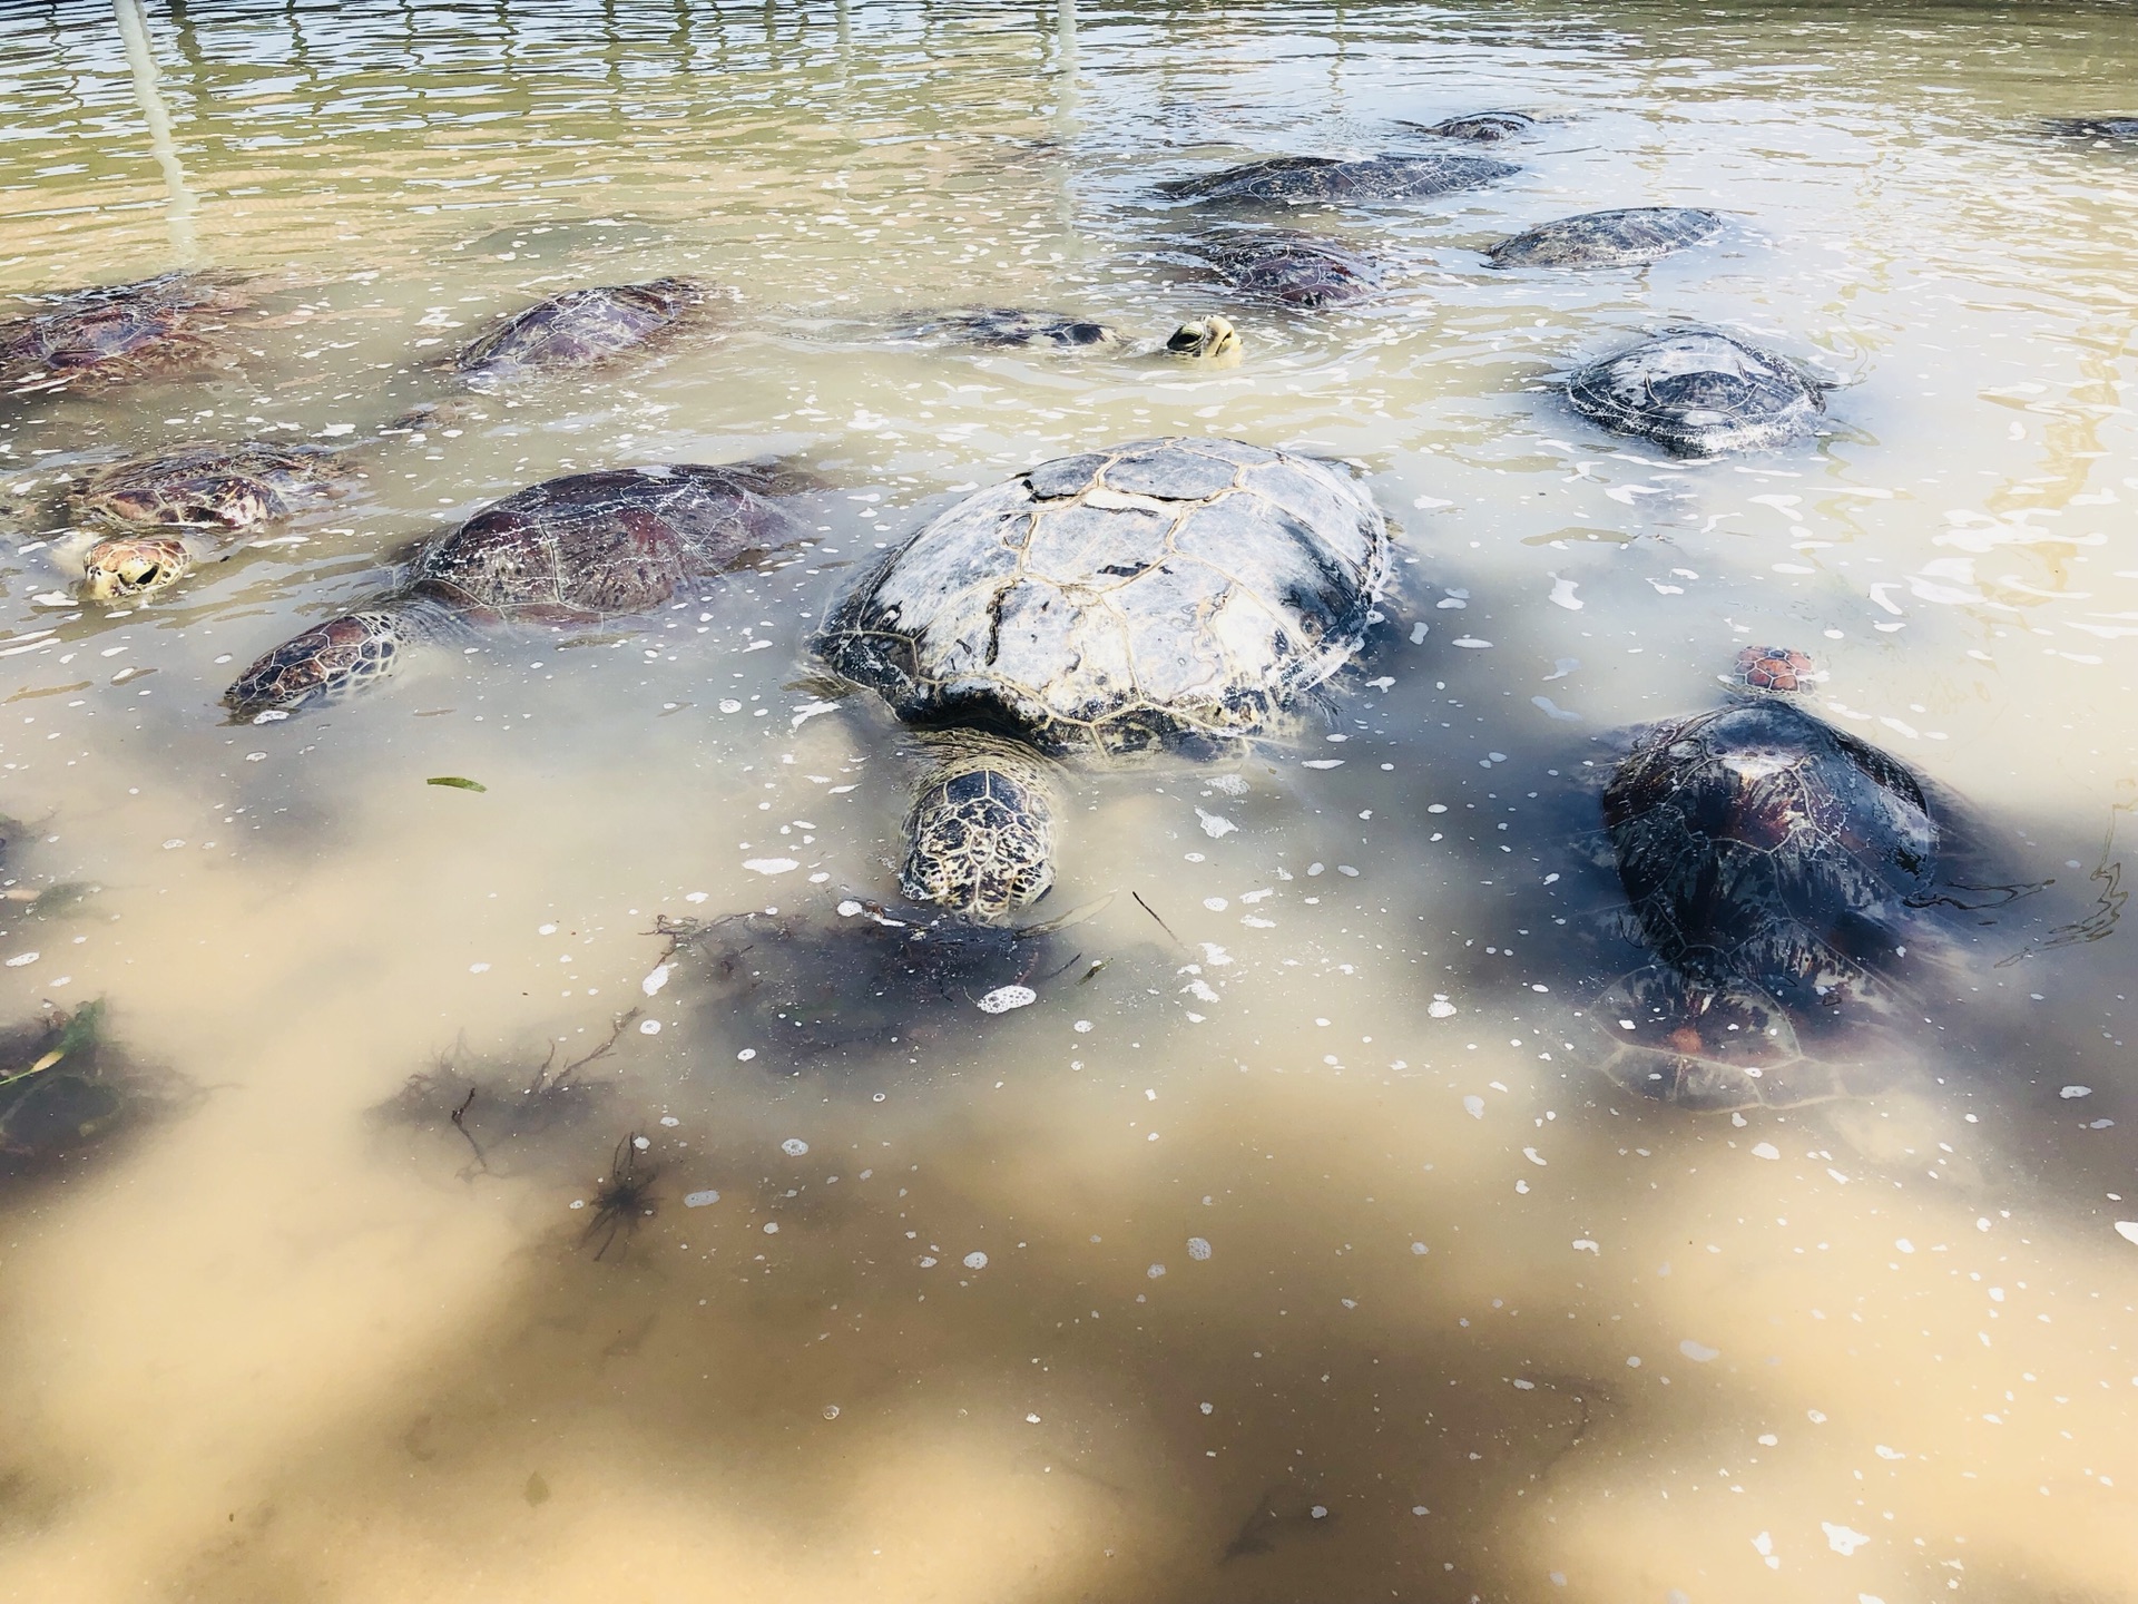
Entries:
{"label": "patterned dark-scaled head of the large pale-shelled turtle", "polygon": [[907,815],[907,896],[1005,920],[1054,885],[1054,798],[1037,757],[1003,742],[943,764]]}

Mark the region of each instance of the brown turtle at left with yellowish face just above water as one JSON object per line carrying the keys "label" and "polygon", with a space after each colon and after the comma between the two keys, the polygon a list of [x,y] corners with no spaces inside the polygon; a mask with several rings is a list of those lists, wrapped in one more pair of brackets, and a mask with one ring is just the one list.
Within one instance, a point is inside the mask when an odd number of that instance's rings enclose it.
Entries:
{"label": "brown turtle at left with yellowish face just above water", "polygon": [[68,513],[103,535],[83,556],[90,601],[135,601],[186,577],[220,537],[327,500],[355,473],[348,451],[280,441],[182,445],[94,468]]}

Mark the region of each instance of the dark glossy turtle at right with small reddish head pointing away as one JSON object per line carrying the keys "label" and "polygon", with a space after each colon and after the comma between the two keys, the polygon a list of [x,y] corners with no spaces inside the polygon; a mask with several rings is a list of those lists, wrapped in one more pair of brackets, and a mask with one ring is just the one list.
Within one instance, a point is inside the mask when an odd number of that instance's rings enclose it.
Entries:
{"label": "dark glossy turtle at right with small reddish head pointing away", "polygon": [[[1738,652],[1734,695],[1644,731],[1604,789],[1642,945],[1599,1024],[1629,1091],[1695,1108],[1864,1091],[1866,1027],[1943,950],[1941,806],[1896,757],[1796,695],[1811,659]],[[1911,952],[1914,947],[1914,952]]]}

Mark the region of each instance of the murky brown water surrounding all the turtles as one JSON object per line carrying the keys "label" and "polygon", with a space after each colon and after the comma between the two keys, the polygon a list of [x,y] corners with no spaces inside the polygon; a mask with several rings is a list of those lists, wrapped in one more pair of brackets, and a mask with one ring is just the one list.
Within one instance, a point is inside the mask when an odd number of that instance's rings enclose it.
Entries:
{"label": "murky brown water surrounding all the turtles", "polygon": [[[158,4],[148,47],[160,158],[109,9],[0,19],[4,284],[192,250],[265,295],[235,370],[0,436],[6,877],[94,885],[9,905],[0,1014],[103,997],[192,1089],[0,1196],[0,1593],[2138,1598],[2138,150],[2035,133],[2132,109],[2127,11]],[[1520,178],[1317,222],[1392,263],[1362,308],[1152,257],[1150,180],[1497,105],[1565,118]],[[1663,201],[1730,240],[1479,265]],[[494,314],[656,272],[738,291],[718,338],[66,605],[53,462],[361,436]],[[1150,340],[1217,306],[1249,355],[872,331],[973,302]],[[1849,381],[1837,432],[1678,466],[1541,387],[1672,319]],[[1045,909],[1112,900],[981,965],[1037,1005],[780,1018],[870,988],[810,930],[892,894],[913,772],[810,620],[956,490],[1155,432],[1368,468],[1373,661],[1246,766],[1078,778]],[[759,453],[836,483],[789,567],[216,706],[505,490]],[[1610,731],[1747,639],[1817,650],[1837,723],[2055,885],[1886,1095],[1736,1123],[1616,1091],[1584,1005],[1638,960]],[[648,990],[656,915],[750,909]],[[445,1119],[611,1033],[579,1093]],[[590,1236],[629,1133],[654,1213]]]}

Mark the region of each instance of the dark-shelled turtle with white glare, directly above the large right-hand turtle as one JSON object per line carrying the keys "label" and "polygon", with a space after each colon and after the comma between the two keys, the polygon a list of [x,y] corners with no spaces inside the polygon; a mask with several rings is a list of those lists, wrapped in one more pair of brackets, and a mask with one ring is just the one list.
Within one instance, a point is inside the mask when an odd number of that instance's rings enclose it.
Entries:
{"label": "dark-shelled turtle with white glare, directly above the large right-hand turtle", "polygon": [[1815,434],[1828,387],[1775,351],[1678,327],[1576,370],[1567,400],[1616,434],[1680,456],[1719,456]]}

